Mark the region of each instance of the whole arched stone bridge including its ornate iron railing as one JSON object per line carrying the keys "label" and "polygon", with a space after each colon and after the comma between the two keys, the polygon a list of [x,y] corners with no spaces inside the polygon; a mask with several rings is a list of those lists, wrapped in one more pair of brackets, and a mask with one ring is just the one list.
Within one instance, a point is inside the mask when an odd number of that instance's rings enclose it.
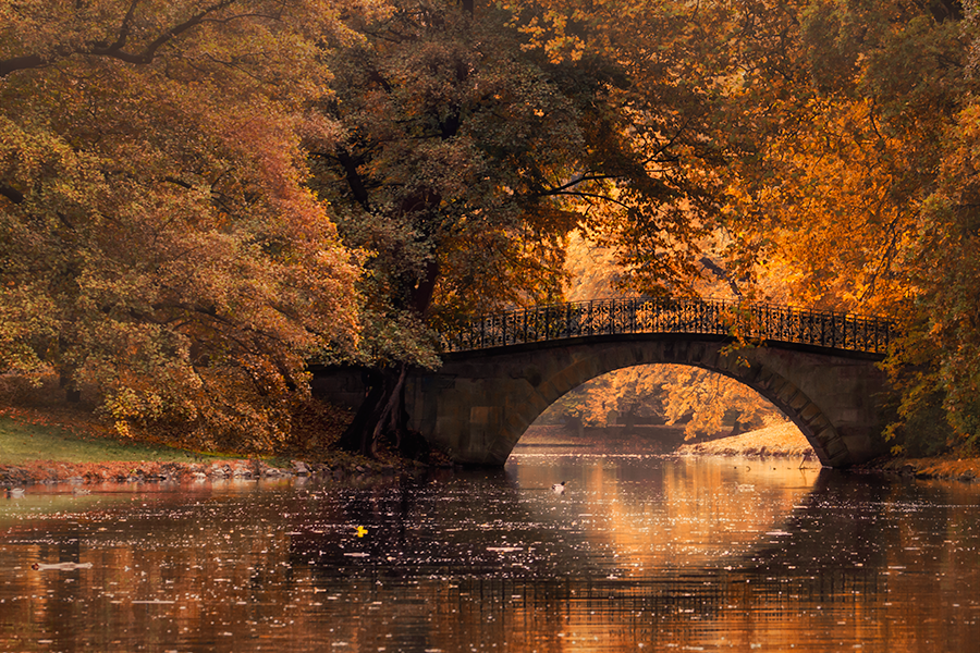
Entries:
{"label": "whole arched stone bridge including its ornate iron railing", "polygon": [[411,427],[453,458],[503,465],[528,426],[574,387],[613,370],[681,364],[725,374],[771,401],[820,461],[884,453],[877,367],[889,320],[772,305],[657,298],[535,307],[443,335],[443,366],[409,377]]}

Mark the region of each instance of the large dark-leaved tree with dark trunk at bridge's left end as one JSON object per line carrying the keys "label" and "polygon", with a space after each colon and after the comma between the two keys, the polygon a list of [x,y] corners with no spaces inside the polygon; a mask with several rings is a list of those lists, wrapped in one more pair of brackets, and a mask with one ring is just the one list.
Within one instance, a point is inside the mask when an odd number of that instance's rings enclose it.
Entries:
{"label": "large dark-leaved tree with dark trunk at bridge's left end", "polygon": [[397,0],[351,14],[360,38],[328,58],[316,109],[340,138],[310,145],[314,187],[368,252],[362,354],[384,385],[352,447],[401,433],[405,365],[433,364],[427,329],[560,298],[575,230],[614,247],[648,292],[696,273],[719,160],[710,94],[685,84],[681,50],[647,40],[677,38],[685,12],[649,8],[628,26],[596,14],[569,51],[539,34],[540,15],[555,27],[547,2]]}

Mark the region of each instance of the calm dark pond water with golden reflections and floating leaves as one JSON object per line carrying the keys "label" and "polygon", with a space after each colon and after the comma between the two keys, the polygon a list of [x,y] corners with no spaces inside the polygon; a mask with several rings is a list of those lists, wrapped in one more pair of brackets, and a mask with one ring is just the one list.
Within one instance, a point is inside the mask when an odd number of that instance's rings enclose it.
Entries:
{"label": "calm dark pond water with golden reflections and floating leaves", "polygon": [[0,650],[977,650],[980,488],[524,451],[0,495]]}

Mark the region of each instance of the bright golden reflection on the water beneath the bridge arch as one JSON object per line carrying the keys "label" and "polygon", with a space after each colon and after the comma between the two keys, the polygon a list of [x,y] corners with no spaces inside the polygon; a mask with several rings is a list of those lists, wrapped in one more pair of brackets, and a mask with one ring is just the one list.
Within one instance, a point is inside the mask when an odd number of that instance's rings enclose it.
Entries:
{"label": "bright golden reflection on the water beneath the bridge arch", "polygon": [[[759,532],[781,528],[816,477],[783,460],[752,461],[752,471],[730,460],[564,459],[571,461],[567,469],[561,463],[517,466],[520,484],[548,486],[575,475],[554,526],[577,522],[584,538],[609,552],[605,574],[630,577],[697,568],[751,550]],[[529,503],[529,509],[536,520],[554,518],[552,503]],[[591,516],[580,519],[581,514]]]}

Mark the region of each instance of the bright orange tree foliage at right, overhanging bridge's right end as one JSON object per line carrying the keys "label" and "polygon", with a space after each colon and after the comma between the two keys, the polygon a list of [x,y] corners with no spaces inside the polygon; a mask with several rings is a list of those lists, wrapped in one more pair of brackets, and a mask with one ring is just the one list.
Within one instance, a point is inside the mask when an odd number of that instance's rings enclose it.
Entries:
{"label": "bright orange tree foliage at right, overhanging bridge's right end", "polygon": [[899,319],[887,367],[901,446],[972,446],[976,8],[819,0],[784,11],[793,20],[759,23],[739,44],[746,61],[780,65],[737,86],[764,122],[756,155],[730,170],[732,251],[783,298]]}

